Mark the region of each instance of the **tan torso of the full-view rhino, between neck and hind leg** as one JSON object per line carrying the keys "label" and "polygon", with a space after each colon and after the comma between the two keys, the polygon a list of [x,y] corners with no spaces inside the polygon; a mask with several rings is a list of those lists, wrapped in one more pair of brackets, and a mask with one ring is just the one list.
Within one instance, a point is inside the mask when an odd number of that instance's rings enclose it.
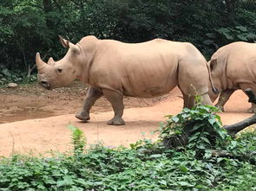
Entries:
{"label": "tan torso of the full-view rhino, between neck and hind leg", "polygon": [[95,55],[90,78],[95,86],[122,91],[127,96],[159,96],[177,86],[179,61],[189,59],[189,51],[185,43],[161,39],[135,44],[104,40]]}

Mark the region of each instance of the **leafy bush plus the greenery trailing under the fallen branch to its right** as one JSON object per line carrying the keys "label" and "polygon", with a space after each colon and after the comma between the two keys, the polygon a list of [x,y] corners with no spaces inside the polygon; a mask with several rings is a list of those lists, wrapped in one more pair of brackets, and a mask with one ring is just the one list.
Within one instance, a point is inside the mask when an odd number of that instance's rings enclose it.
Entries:
{"label": "leafy bush plus the greenery trailing under the fallen branch to its right", "polygon": [[196,105],[191,110],[184,108],[178,115],[169,116],[159,129],[165,148],[194,150],[197,156],[204,158],[211,158],[213,150],[219,150],[227,156],[256,163],[255,132],[233,139],[222,128],[216,111],[214,106]]}

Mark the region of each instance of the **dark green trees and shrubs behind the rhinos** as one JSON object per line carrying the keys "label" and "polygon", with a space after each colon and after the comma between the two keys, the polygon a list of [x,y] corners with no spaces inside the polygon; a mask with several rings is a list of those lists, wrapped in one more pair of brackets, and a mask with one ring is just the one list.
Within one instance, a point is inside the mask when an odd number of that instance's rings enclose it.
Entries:
{"label": "dark green trees and shrubs behind the rhinos", "polygon": [[255,41],[255,34],[254,0],[1,0],[0,85],[30,76],[37,51],[59,59],[66,50],[58,35],[73,42],[85,35],[190,41],[209,58],[229,42]]}

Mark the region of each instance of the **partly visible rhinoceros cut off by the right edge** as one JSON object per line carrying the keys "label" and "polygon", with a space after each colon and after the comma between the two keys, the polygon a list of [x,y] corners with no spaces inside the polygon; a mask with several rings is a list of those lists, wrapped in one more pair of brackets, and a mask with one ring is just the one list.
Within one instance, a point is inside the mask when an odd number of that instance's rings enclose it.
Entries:
{"label": "partly visible rhinoceros cut off by the right edge", "polygon": [[[216,106],[223,107],[235,90],[251,88],[256,91],[256,43],[236,41],[219,48],[208,62],[214,86],[220,92]],[[214,101],[218,94],[209,92]],[[248,110],[256,112],[255,105]]]}

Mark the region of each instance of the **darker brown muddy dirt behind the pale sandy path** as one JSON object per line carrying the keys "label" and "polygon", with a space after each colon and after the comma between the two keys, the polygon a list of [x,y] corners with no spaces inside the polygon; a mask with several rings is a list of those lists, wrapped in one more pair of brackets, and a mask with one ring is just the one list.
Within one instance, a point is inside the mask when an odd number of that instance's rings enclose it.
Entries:
{"label": "darker brown muddy dirt behind the pale sandy path", "polygon": [[[75,81],[72,86],[46,91],[37,84],[0,88],[0,124],[30,118],[47,118],[74,114],[82,108],[87,86]],[[165,99],[167,96],[161,97]],[[126,108],[152,105],[156,99],[125,98]],[[91,112],[111,111],[107,99],[97,100]]]}

